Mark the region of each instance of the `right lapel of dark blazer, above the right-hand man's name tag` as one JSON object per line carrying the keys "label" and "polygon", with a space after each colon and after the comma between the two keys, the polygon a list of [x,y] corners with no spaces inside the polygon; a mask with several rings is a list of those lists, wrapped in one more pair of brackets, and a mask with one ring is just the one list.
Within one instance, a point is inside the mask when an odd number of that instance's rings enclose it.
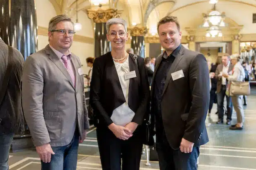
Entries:
{"label": "right lapel of dark blazer, above the right-hand man's name tag", "polygon": [[174,62],[171,64],[171,68],[170,68],[169,72],[167,73],[167,77],[165,80],[164,90],[163,90],[162,95],[164,94],[164,91],[166,90],[166,88],[171,80],[171,73],[174,73],[176,67],[179,65],[179,62],[184,57],[183,54],[184,54],[184,47],[181,46],[181,50],[179,51],[179,54],[177,54],[177,56],[175,57]]}

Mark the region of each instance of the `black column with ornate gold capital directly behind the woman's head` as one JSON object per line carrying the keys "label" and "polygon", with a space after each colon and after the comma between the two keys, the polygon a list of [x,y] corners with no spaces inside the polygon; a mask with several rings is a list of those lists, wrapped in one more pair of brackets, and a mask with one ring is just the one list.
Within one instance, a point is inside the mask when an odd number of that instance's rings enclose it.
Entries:
{"label": "black column with ornate gold capital directly behind the woman's head", "polygon": [[99,57],[111,51],[111,44],[106,38],[106,21],[111,18],[121,17],[121,12],[117,9],[87,9],[87,14],[95,24],[94,57]]}

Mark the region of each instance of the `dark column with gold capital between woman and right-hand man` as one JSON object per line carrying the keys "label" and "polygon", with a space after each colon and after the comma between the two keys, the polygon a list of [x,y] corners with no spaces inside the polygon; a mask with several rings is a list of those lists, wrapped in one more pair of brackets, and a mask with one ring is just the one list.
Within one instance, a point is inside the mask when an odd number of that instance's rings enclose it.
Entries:
{"label": "dark column with gold capital between woman and right-hand man", "polygon": [[147,28],[134,27],[130,28],[129,31],[132,36],[131,48],[133,48],[134,54],[145,58],[145,34],[147,33]]}

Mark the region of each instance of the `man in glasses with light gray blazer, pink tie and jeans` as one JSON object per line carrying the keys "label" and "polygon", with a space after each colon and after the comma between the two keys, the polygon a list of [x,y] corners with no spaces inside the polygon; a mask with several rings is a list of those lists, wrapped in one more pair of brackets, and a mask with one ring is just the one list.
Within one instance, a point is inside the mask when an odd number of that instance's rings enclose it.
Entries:
{"label": "man in glasses with light gray blazer, pink tie and jeans", "polygon": [[74,34],[70,18],[53,17],[49,45],[24,66],[22,106],[42,170],[75,170],[89,128],[81,63],[69,50]]}

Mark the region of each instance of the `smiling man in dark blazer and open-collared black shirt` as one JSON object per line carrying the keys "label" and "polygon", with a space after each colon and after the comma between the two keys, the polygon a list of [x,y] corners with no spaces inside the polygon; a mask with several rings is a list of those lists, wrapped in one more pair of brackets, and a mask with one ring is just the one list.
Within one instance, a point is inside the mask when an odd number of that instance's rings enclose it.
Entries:
{"label": "smiling man in dark blazer and open-collared black shirt", "polygon": [[155,118],[160,170],[195,170],[199,146],[208,142],[205,118],[210,100],[205,57],[181,45],[176,17],[157,26],[164,54],[157,57],[152,80],[151,116]]}

